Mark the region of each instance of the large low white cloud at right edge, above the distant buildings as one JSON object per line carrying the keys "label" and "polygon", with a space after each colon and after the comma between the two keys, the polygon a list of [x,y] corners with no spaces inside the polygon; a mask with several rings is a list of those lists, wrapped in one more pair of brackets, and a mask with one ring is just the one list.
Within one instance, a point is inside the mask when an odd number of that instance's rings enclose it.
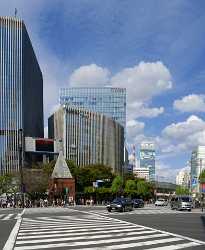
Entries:
{"label": "large low white cloud at right edge, above the distant buildings", "polygon": [[191,151],[198,145],[205,145],[205,121],[192,115],[186,121],[172,123],[156,141],[165,154]]}

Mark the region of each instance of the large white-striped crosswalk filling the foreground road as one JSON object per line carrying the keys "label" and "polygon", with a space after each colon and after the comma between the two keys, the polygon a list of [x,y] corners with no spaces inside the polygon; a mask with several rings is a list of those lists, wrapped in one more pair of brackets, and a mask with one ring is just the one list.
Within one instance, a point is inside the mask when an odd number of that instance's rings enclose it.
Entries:
{"label": "large white-striped crosswalk filling the foreground road", "polygon": [[[23,218],[15,250],[185,249],[198,240],[96,214]],[[142,248],[143,247],[143,248]]]}

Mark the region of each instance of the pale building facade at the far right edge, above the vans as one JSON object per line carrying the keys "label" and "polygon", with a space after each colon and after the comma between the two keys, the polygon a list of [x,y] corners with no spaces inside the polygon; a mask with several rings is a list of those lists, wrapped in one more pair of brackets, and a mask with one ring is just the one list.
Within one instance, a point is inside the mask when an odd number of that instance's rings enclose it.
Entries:
{"label": "pale building facade at the far right edge, above the vans", "polygon": [[205,169],[205,146],[198,146],[191,155],[191,191],[200,193],[199,175]]}

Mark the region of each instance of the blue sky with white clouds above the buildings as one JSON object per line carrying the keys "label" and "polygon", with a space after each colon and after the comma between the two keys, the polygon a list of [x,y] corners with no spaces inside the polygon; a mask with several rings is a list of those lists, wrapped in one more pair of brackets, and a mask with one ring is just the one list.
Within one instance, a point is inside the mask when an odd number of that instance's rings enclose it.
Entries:
{"label": "blue sky with white clouds above the buildings", "polygon": [[128,146],[152,139],[174,180],[205,145],[203,0],[1,0],[24,19],[44,76],[45,127],[65,86],[127,87]]}

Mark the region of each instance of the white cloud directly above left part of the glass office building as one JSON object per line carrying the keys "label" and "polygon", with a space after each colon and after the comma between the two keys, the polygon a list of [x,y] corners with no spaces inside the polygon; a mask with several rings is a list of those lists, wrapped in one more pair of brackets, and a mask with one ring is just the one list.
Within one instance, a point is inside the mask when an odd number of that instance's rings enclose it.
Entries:
{"label": "white cloud directly above left part of the glass office building", "polygon": [[72,87],[99,87],[109,82],[110,72],[106,68],[90,64],[76,69],[70,76]]}

